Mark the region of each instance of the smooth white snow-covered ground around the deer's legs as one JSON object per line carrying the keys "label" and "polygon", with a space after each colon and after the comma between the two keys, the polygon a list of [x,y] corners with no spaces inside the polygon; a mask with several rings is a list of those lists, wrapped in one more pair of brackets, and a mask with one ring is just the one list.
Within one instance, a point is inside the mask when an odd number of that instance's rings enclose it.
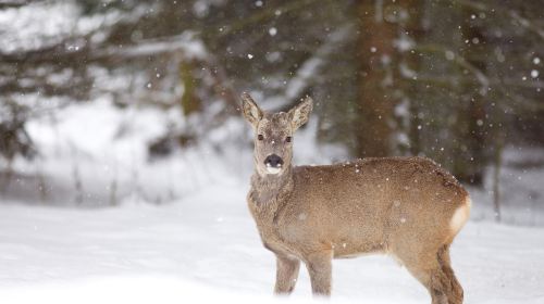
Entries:
{"label": "smooth white snow-covered ground around the deer's legs", "polygon": [[[260,244],[246,183],[182,201],[65,208],[0,204],[2,303],[275,302],[273,255]],[[466,303],[543,303],[544,229],[469,223],[453,246]],[[334,302],[428,303],[384,256],[334,263]],[[310,299],[306,271],[294,294]]]}

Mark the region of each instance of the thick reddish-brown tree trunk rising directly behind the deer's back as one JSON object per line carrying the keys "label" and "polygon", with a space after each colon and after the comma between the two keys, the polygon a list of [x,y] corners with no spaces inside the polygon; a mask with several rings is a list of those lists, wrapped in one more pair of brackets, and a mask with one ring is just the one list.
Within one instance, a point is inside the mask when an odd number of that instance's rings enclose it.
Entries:
{"label": "thick reddish-brown tree trunk rising directly behind the deer's back", "polygon": [[419,0],[359,1],[360,20],[359,117],[355,127],[358,156],[396,153],[394,109],[403,98],[398,63],[410,20],[417,18]]}

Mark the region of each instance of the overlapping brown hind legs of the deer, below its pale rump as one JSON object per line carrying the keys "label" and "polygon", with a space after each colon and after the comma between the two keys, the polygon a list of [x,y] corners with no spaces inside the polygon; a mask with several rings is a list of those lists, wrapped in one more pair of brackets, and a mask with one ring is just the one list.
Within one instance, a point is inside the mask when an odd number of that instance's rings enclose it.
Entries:
{"label": "overlapping brown hind legs of the deer, below its pale rump", "polygon": [[449,261],[449,245],[419,256],[399,256],[410,274],[429,291],[432,304],[461,304],[462,288],[454,275]]}

